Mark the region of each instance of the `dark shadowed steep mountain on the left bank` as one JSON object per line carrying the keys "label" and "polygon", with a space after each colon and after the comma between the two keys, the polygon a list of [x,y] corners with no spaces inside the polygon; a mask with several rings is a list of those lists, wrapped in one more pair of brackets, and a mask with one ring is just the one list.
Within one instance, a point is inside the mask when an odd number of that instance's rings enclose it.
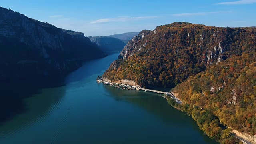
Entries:
{"label": "dark shadowed steep mountain on the left bank", "polygon": [[0,78],[55,76],[106,56],[81,32],[0,7]]}

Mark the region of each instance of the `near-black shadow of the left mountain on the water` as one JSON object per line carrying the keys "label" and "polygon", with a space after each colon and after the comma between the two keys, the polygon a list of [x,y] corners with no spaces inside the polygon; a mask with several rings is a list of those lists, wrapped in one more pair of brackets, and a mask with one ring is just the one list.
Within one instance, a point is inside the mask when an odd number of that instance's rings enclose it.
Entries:
{"label": "near-black shadow of the left mountain on the water", "polygon": [[[18,122],[22,124],[22,122],[27,119],[32,119],[36,115],[40,115],[43,113],[49,106],[57,102],[61,95],[64,93],[63,89],[54,89],[56,87],[64,86],[63,78],[44,78],[36,80],[26,79],[26,80],[12,80],[12,81],[1,81],[0,82],[0,126],[5,124],[8,120],[12,120],[12,118],[16,117],[19,114],[25,114],[28,111],[33,111],[34,106],[40,107],[40,109],[36,109],[37,112],[35,114],[26,114],[29,117],[24,116],[25,119],[19,120]],[[60,95],[56,95],[56,97],[52,97],[50,95],[44,94],[44,98],[40,97],[37,103],[32,105],[28,105],[26,103],[26,98],[34,97],[40,93],[41,89],[49,89],[53,90],[56,93],[60,93]],[[31,111],[31,112],[32,112]]]}

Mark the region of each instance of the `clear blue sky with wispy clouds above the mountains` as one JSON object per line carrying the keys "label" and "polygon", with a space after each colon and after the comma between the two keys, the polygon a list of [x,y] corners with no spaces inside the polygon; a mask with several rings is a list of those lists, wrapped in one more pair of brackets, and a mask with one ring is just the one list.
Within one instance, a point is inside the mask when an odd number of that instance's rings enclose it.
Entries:
{"label": "clear blue sky with wispy clouds above the mountains", "polygon": [[0,6],[85,36],[154,30],[172,22],[256,26],[256,0],[2,0]]}

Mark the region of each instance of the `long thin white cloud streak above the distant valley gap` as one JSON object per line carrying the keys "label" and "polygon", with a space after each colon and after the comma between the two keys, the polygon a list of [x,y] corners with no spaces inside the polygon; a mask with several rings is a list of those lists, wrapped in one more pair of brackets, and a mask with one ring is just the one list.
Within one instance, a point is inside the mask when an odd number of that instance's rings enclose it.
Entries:
{"label": "long thin white cloud streak above the distant valley gap", "polygon": [[150,18],[158,18],[158,16],[140,16],[140,17],[118,17],[118,18],[103,18],[99,20],[92,21],[92,24],[99,23],[108,23],[108,22],[127,22],[131,20],[142,20],[142,19],[150,19]]}

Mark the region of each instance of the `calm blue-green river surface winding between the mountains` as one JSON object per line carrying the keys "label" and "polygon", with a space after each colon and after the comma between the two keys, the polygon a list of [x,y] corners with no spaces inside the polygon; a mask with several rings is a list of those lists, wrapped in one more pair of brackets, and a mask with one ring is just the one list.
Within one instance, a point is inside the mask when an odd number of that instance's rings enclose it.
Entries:
{"label": "calm blue-green river surface winding between the mountains", "polygon": [[53,86],[5,90],[0,144],[216,144],[160,95],[97,84],[117,56],[86,62]]}

